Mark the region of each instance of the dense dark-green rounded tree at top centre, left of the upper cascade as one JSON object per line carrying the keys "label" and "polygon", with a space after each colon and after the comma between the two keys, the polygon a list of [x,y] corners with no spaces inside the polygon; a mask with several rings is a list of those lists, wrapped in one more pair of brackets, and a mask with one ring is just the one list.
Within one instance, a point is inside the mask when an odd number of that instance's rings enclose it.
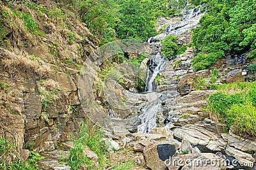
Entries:
{"label": "dense dark-green rounded tree at top centre, left of the upper cascade", "polygon": [[116,24],[116,36],[119,39],[147,39],[155,36],[155,16],[150,10],[150,1],[119,1],[120,21]]}

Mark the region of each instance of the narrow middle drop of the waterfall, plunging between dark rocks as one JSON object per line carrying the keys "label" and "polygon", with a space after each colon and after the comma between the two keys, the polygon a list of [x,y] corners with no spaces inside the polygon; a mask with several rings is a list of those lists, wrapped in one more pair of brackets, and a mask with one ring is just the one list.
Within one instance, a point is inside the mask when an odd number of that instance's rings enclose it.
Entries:
{"label": "narrow middle drop of the waterfall, plunging between dark rocks", "polygon": [[163,57],[160,52],[150,59],[150,63],[148,64],[145,92],[154,92],[154,90],[156,90],[156,76],[163,71],[167,63],[168,59]]}

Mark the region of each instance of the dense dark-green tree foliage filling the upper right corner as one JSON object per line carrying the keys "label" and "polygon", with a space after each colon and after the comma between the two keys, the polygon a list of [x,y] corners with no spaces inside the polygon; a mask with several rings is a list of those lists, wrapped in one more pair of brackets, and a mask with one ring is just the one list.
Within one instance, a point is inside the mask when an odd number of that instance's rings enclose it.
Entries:
{"label": "dense dark-green tree foliage filling the upper right corner", "polygon": [[194,68],[209,68],[227,52],[251,52],[249,57],[256,57],[256,0],[211,0],[207,8],[201,26],[193,29],[193,44],[200,52],[193,59]]}

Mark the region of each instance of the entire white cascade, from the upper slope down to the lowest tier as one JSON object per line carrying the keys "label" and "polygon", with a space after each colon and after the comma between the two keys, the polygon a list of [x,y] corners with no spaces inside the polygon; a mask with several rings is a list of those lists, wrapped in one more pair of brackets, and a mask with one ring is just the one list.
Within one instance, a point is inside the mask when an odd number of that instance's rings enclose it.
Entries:
{"label": "entire white cascade, from the upper slope down to the lowest tier", "polygon": [[[166,32],[148,39],[148,43],[153,45],[156,50],[148,64],[145,92],[154,92],[154,90],[156,90],[155,80],[157,74],[161,73],[168,63],[168,59],[161,55],[161,52],[159,51],[161,43],[156,43],[156,39],[163,40],[167,35],[182,34],[189,31],[192,27],[196,27],[202,15],[204,14],[200,12],[200,8],[188,10],[187,15],[184,18],[181,18],[180,22],[168,25],[166,27]],[[150,93],[148,93],[148,95],[150,95]],[[177,94],[175,93],[175,95]],[[141,124],[138,125],[138,132],[148,133],[157,127],[157,114],[162,111],[160,98],[161,97],[148,103],[147,106],[143,108],[143,114],[139,116]]]}

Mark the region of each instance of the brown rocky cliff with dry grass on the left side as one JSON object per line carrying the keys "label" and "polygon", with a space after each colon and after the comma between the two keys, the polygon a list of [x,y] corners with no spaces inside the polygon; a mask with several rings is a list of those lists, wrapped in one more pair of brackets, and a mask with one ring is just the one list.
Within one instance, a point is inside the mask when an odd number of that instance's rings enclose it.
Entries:
{"label": "brown rocky cliff with dry grass on the left side", "polygon": [[22,148],[54,150],[86,117],[77,94],[97,40],[63,3],[0,3],[0,136]]}

